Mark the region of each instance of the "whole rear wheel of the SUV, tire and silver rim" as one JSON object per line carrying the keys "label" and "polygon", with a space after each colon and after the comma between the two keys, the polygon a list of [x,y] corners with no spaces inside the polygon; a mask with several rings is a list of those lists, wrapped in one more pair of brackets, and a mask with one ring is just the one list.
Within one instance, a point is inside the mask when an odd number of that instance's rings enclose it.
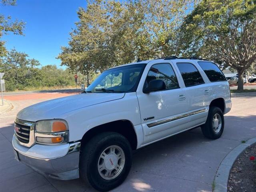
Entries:
{"label": "whole rear wheel of the SUV, tire and silver rim", "polygon": [[223,112],[218,107],[210,107],[206,123],[201,126],[205,137],[218,139],[224,130]]}

